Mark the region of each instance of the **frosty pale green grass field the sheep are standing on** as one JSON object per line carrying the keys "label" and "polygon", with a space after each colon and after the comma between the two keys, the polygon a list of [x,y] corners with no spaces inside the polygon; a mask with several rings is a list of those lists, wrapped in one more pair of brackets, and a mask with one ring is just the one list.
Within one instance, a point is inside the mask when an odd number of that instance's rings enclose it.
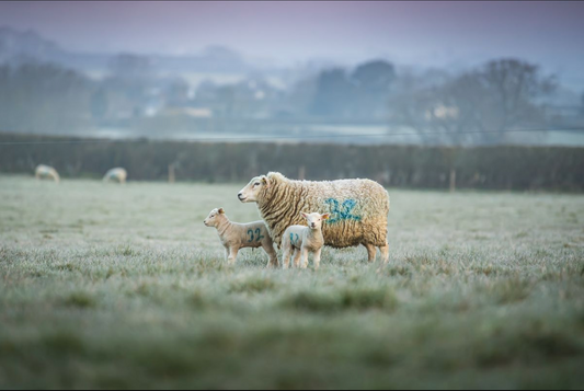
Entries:
{"label": "frosty pale green grass field the sheep are standing on", "polygon": [[389,265],[285,272],[242,185],[0,176],[0,389],[584,388],[584,196],[390,189]]}

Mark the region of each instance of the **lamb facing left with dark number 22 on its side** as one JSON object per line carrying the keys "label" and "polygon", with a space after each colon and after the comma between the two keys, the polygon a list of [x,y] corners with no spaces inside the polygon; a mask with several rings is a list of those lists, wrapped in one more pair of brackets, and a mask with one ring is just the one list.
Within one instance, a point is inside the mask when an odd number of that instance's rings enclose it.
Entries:
{"label": "lamb facing left with dark number 22 on its side", "polygon": [[278,258],[274,250],[274,242],[267,233],[267,227],[263,221],[238,223],[229,221],[224,208],[213,209],[204,221],[207,227],[215,227],[219,239],[225,246],[227,262],[236,263],[238,252],[244,248],[262,248],[270,256],[266,267],[277,267]]}

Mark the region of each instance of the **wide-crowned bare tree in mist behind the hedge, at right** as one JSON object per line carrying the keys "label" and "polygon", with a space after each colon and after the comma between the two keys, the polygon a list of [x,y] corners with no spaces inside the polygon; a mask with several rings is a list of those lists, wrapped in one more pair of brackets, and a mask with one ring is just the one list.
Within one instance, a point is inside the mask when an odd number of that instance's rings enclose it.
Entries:
{"label": "wide-crowned bare tree in mist behind the hedge, at right", "polygon": [[517,127],[545,126],[538,100],[556,87],[537,66],[503,59],[393,102],[394,119],[428,143],[501,143]]}

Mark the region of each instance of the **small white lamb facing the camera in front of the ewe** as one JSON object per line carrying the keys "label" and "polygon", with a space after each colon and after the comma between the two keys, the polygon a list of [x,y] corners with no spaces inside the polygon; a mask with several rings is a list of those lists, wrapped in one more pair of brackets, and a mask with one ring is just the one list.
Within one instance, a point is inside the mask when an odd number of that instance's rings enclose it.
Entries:
{"label": "small white lamb facing the camera in front of the ewe", "polygon": [[[320,254],[324,238],[322,237],[322,222],[329,219],[329,214],[305,214],[302,217],[308,221],[308,227],[291,226],[284,232],[282,239],[282,249],[284,250],[284,258],[282,260],[284,268],[288,268],[290,264],[290,255],[294,253],[294,266],[307,268],[308,252],[314,254],[314,269],[320,267]],[[300,263],[300,257],[302,262]]]}

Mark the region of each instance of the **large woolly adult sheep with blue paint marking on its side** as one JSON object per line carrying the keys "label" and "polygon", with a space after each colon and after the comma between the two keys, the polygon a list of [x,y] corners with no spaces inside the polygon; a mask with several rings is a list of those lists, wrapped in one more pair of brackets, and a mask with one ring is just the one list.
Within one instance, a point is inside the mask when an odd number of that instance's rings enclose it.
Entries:
{"label": "large woolly adult sheep with blue paint marking on its side", "polygon": [[363,244],[369,262],[375,261],[377,246],[383,262],[389,262],[389,195],[377,182],[291,181],[280,173],[271,172],[254,177],[241,189],[238,198],[242,203],[257,204],[260,216],[278,246],[288,227],[302,223],[299,211],[313,210],[331,215],[322,227],[325,245],[342,249]]}

